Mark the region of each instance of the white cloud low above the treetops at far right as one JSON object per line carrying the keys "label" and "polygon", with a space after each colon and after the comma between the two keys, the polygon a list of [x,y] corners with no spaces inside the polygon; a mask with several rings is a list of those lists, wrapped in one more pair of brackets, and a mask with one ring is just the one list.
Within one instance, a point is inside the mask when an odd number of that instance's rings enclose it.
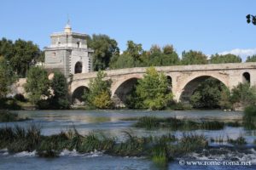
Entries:
{"label": "white cloud low above the treetops at far right", "polygon": [[245,61],[247,59],[247,56],[249,55],[253,55],[256,54],[256,48],[251,48],[251,49],[240,49],[240,48],[236,48],[236,49],[232,49],[230,51],[224,51],[218,54],[235,54],[235,55],[239,55],[241,57],[241,59],[243,61]]}

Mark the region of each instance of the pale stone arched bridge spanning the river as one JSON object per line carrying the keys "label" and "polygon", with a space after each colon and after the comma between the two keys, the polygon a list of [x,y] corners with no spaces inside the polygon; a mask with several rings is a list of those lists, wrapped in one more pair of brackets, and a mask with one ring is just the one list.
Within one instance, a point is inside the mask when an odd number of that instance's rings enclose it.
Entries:
{"label": "pale stone arched bridge spanning the river", "polygon": [[[175,65],[155,67],[157,71],[166,74],[174,99],[177,101],[188,101],[198,84],[208,77],[213,77],[223,82],[227,88],[233,88],[239,82],[250,82],[256,85],[256,62],[255,63],[232,63],[211,65]],[[112,97],[117,98],[125,104],[126,94],[131,91],[137,80],[145,74],[146,67],[135,67],[128,69],[110,70],[107,79],[112,80]],[[96,77],[96,72],[73,75],[70,83],[70,94],[73,101],[81,100],[84,89],[88,88],[91,78]]]}

